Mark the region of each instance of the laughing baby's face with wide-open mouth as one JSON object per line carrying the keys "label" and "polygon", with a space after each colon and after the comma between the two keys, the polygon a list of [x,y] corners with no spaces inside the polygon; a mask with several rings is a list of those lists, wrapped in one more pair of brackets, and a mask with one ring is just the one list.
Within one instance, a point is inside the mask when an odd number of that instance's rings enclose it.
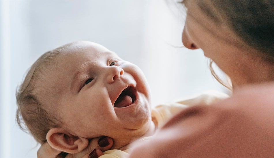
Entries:
{"label": "laughing baby's face with wide-open mouth", "polygon": [[[151,95],[143,72],[105,47],[77,42],[60,54],[57,114],[63,128],[75,136],[134,138],[151,121]],[[58,89],[59,88],[59,89]]]}

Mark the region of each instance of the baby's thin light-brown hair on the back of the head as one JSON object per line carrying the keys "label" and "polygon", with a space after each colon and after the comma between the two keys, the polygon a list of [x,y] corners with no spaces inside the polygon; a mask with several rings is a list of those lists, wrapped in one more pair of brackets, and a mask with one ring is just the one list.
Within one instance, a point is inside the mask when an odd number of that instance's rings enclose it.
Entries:
{"label": "baby's thin light-brown hair on the back of the head", "polygon": [[52,90],[40,83],[44,83],[45,75],[55,68],[54,59],[57,55],[70,45],[61,46],[40,56],[29,68],[16,91],[16,121],[23,131],[29,131],[41,144],[46,142],[47,132],[62,122],[54,114],[54,97],[50,94]]}

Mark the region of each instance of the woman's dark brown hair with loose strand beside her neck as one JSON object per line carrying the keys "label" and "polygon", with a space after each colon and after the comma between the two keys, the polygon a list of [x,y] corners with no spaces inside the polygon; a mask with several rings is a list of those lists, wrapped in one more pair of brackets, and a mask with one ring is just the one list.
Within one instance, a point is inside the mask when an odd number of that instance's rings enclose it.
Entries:
{"label": "woman's dark brown hair with loose strand beside her neck", "polygon": [[[265,62],[274,62],[274,4],[273,0],[203,0],[195,1],[200,10],[211,20],[220,24],[224,22],[241,40],[258,50],[255,54]],[[183,1],[182,3],[192,3]],[[194,13],[192,13],[191,16]],[[213,76],[224,82],[210,69]],[[229,85],[225,85],[229,88]],[[230,89],[230,88],[229,88]]]}

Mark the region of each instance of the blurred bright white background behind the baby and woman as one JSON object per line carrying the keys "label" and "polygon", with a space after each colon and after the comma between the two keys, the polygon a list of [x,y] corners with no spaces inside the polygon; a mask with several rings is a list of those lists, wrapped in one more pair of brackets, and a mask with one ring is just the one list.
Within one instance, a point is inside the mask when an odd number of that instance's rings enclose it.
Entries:
{"label": "blurred bright white background behind the baby and woman", "polygon": [[42,53],[73,41],[99,43],[138,65],[153,106],[225,89],[201,50],[182,46],[184,14],[169,0],[0,0],[0,157],[36,157],[34,139],[15,123],[15,91]]}

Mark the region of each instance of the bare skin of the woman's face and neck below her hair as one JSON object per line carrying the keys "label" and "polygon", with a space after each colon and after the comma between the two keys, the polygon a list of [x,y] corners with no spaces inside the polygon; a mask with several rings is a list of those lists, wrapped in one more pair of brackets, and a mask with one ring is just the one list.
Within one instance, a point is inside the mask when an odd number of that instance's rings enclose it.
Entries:
{"label": "bare skin of the woman's face and neck below her hair", "polygon": [[[192,1],[186,4],[188,10],[182,33],[183,45],[188,49],[202,49],[204,55],[230,77],[233,89],[248,84],[273,82],[273,63],[256,56],[260,53],[258,50],[246,45],[227,25],[215,24],[195,3]],[[189,16],[189,13],[195,15],[195,18]],[[96,146],[91,148],[95,149]]]}

